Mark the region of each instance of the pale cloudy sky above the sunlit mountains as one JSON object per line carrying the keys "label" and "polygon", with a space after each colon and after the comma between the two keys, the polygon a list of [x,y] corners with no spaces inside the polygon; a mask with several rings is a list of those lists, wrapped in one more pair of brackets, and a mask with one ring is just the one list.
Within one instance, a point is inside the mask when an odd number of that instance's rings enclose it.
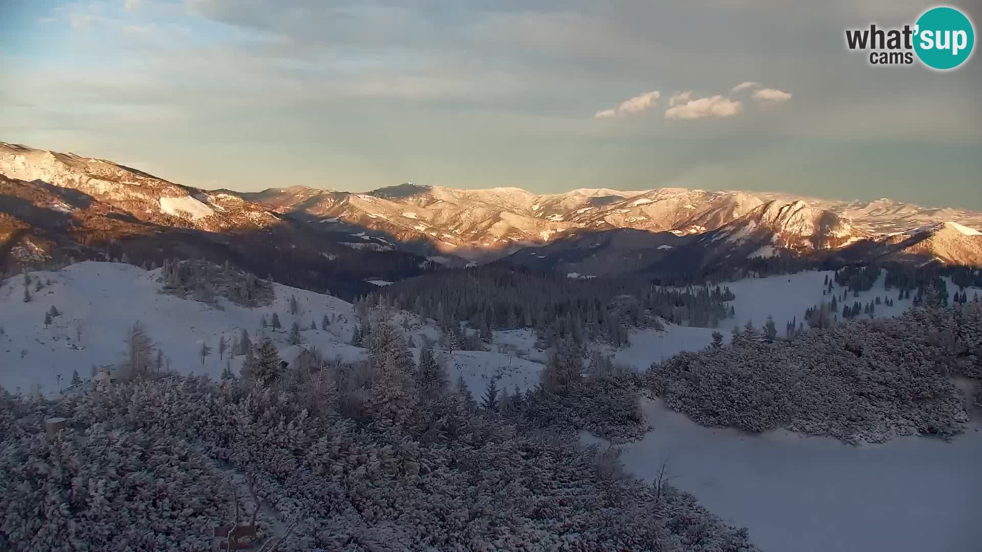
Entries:
{"label": "pale cloudy sky above the sunlit mountains", "polygon": [[[982,22],[982,1],[951,4]],[[982,210],[982,58],[912,0],[0,0],[0,140],[201,188],[690,187]],[[976,49],[978,49],[978,46]]]}

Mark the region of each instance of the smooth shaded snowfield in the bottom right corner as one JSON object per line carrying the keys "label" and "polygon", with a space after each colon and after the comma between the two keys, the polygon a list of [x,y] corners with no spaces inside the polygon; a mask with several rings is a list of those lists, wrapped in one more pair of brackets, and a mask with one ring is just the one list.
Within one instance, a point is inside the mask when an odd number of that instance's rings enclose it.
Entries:
{"label": "smooth shaded snowfield in the bottom right corner", "polygon": [[654,429],[624,446],[626,468],[650,481],[667,459],[672,484],[749,528],[765,552],[973,552],[982,542],[977,422],[951,442],[902,437],[857,448],[784,430],[703,427],[656,401],[642,408]]}

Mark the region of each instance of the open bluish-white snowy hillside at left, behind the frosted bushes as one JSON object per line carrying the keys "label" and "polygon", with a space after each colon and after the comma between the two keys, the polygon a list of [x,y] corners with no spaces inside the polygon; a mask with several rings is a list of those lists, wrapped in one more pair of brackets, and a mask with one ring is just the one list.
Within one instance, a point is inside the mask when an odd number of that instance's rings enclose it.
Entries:
{"label": "open bluish-white snowy hillside at left, behind the frosted bushes", "polygon": [[[224,300],[209,306],[159,293],[160,269],[146,271],[125,263],[87,261],[57,272],[29,274],[29,303],[24,302],[24,276],[9,278],[0,285],[0,386],[11,392],[27,392],[39,384],[43,392],[54,393],[58,374],[64,388],[73,370],[78,370],[84,380],[91,377],[93,364],[119,362],[126,351],[127,333],[136,321],[146,327],[147,335],[178,373],[218,378],[229,358],[228,354],[219,358],[219,339],[224,336],[231,343],[243,329],[253,341],[256,336],[269,336],[278,349],[286,350],[294,321],[300,325],[303,344],[316,347],[325,359],[365,358],[364,349],[348,345],[356,324],[352,304],[331,296],[274,283],[275,300],[268,306],[246,308]],[[43,287],[34,291],[38,281]],[[292,297],[299,305],[296,315],[290,312]],[[52,305],[60,314],[45,327],[45,312]],[[283,328],[261,328],[260,320],[271,319],[274,312]],[[311,323],[320,328],[325,314],[332,320],[328,329],[310,329]],[[404,333],[414,344],[422,345],[423,336],[439,339],[438,328],[421,326],[409,313],[396,313],[392,321],[402,326],[404,317],[410,318]],[[199,356],[202,343],[212,348],[203,362]],[[417,349],[414,352],[418,354]],[[538,382],[542,367],[507,353],[455,351],[442,355],[447,357],[451,381],[463,376],[475,394],[498,374],[502,375],[503,389],[529,389]],[[233,358],[233,369],[238,370],[243,359]]]}

